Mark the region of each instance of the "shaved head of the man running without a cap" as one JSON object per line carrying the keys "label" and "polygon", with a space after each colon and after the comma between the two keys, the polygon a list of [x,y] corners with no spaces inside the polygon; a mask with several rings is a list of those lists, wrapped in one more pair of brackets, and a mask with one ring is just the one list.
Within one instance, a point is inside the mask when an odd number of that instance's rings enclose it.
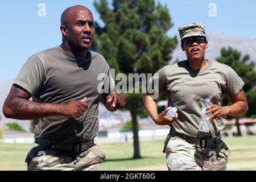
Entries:
{"label": "shaved head of the man running without a cap", "polygon": [[84,52],[92,47],[94,19],[92,12],[84,6],[72,6],[61,15],[60,30],[63,46],[71,52]]}

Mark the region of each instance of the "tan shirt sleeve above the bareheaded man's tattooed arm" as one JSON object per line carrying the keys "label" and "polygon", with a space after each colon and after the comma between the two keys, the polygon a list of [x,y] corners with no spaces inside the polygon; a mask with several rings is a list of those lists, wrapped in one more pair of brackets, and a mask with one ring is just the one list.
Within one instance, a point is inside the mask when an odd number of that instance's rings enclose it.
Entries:
{"label": "tan shirt sleeve above the bareheaded man's tattooed arm", "polygon": [[40,91],[43,86],[45,69],[38,56],[31,56],[23,65],[14,84],[19,85],[32,95]]}

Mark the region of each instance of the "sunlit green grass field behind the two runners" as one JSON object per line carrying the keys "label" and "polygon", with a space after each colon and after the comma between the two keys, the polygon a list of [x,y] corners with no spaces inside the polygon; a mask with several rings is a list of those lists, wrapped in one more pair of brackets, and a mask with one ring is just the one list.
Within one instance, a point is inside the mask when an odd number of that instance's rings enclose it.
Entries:
{"label": "sunlit green grass field behind the two runners", "polygon": [[[256,170],[256,136],[226,137],[225,143],[232,151],[228,170]],[[141,141],[141,159],[131,159],[133,144],[99,144],[106,152],[105,170],[167,170],[162,153],[163,140]],[[24,159],[31,144],[0,143],[0,170],[26,170]]]}

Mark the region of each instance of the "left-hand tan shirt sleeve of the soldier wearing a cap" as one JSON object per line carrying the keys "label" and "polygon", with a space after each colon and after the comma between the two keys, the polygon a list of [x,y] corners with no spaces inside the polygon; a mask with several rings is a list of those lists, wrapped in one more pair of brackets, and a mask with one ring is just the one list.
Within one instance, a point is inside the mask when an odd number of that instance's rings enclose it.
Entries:
{"label": "left-hand tan shirt sleeve of the soldier wearing a cap", "polygon": [[154,100],[157,99],[160,94],[167,93],[167,79],[166,79],[166,67],[163,67],[158,72],[154,74],[148,81],[147,93]]}

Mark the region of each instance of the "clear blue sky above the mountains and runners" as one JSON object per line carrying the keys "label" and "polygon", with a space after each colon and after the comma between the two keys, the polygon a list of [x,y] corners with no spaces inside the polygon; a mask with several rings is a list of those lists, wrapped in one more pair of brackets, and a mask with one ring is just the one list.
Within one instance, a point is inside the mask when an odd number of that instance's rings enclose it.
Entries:
{"label": "clear blue sky above the mountains and runners", "polygon": [[[111,2],[111,1],[110,1]],[[222,32],[242,38],[256,37],[256,1],[221,1],[194,0],[170,1],[160,0],[167,5],[174,27],[167,35],[177,34],[177,27],[184,23],[202,22],[208,32]],[[38,5],[46,5],[46,16],[38,16]],[[210,17],[209,4],[215,3],[217,16]],[[93,0],[24,0],[1,1],[0,22],[0,81],[16,77],[22,65],[32,54],[61,43],[59,30],[60,15],[69,6],[87,6],[100,21],[100,16],[93,6]]]}

